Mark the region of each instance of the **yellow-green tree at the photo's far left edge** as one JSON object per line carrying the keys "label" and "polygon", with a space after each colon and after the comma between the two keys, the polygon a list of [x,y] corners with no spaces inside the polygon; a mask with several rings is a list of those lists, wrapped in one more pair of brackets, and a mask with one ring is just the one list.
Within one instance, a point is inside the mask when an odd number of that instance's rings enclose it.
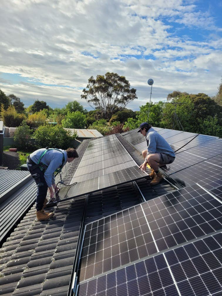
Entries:
{"label": "yellow-green tree at the photo's far left edge", "polygon": [[15,107],[11,105],[7,110],[1,107],[1,118],[5,126],[17,127],[26,119],[26,116],[25,114],[17,113]]}

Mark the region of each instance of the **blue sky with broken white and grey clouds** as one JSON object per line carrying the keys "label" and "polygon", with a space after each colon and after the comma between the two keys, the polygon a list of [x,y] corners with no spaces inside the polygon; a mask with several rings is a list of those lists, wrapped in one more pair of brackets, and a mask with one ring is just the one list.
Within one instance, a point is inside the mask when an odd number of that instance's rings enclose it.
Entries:
{"label": "blue sky with broken white and grey clouds", "polygon": [[0,89],[63,107],[89,77],[115,72],[138,99],[175,90],[213,96],[222,75],[222,2],[189,0],[1,0]]}

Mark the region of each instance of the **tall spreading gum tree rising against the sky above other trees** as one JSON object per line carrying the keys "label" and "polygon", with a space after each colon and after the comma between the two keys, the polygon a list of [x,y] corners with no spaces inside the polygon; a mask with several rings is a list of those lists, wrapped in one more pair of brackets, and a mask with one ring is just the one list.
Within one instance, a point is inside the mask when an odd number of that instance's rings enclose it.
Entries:
{"label": "tall spreading gum tree rising against the sky above other trees", "polygon": [[105,75],[97,75],[96,79],[91,76],[81,98],[86,99],[91,107],[97,107],[103,117],[109,119],[109,114],[113,114],[115,107],[124,109],[137,96],[136,89],[130,89],[126,77],[107,72]]}

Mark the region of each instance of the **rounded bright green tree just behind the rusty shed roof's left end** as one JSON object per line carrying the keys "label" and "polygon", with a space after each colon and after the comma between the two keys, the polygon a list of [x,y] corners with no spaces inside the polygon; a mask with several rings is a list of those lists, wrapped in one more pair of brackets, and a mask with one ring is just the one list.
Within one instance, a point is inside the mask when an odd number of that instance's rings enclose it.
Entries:
{"label": "rounded bright green tree just behind the rusty shed roof's left end", "polygon": [[66,118],[62,119],[64,128],[84,128],[86,125],[86,115],[79,112],[68,112]]}

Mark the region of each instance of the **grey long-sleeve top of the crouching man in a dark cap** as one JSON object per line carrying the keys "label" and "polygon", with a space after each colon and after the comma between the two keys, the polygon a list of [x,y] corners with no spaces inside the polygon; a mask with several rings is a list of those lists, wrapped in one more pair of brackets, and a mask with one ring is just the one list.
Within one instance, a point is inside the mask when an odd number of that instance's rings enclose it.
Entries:
{"label": "grey long-sleeve top of the crouching man in a dark cap", "polygon": [[147,156],[154,153],[165,153],[172,157],[175,157],[175,153],[167,141],[155,131],[150,128],[146,134],[147,140]]}

